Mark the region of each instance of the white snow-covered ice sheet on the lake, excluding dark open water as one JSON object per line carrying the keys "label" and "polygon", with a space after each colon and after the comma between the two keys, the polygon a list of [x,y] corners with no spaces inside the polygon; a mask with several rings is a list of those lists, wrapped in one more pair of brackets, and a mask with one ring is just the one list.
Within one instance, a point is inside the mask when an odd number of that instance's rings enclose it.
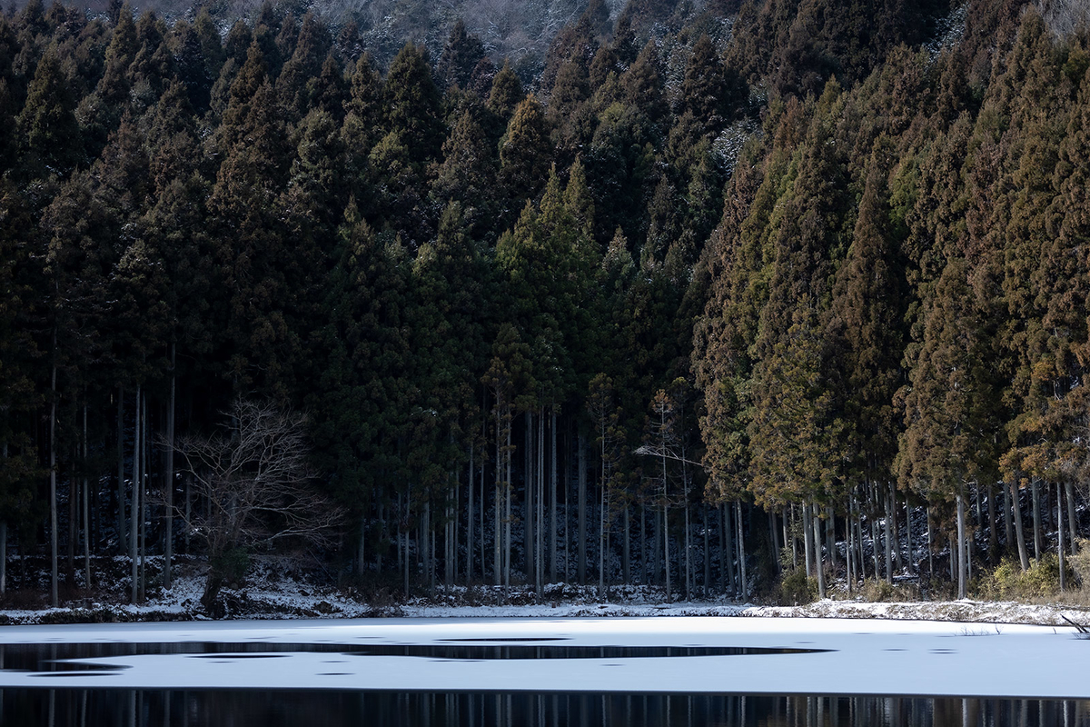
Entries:
{"label": "white snow-covered ice sheet on the lake, excluding dark open water", "polygon": [[[1090,699],[1071,627],[798,618],[444,618],[16,626],[0,643],[220,642],[734,646],[795,653],[614,658],[148,654],[99,671],[0,671],[0,687],[918,694]],[[797,650],[827,650],[798,653]],[[131,667],[131,668],[126,668]],[[44,676],[48,675],[48,679]]]}

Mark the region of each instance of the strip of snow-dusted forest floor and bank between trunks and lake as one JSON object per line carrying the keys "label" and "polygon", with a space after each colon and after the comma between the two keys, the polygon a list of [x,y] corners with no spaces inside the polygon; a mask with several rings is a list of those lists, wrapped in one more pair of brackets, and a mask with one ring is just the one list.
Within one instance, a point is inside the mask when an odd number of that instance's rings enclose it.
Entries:
{"label": "strip of snow-dusted forest floor and bank between trunks and lake", "polygon": [[[131,604],[124,558],[104,559],[93,565],[98,585],[94,590],[68,586],[61,590],[60,608],[50,608],[48,573],[37,575],[33,589],[9,589],[0,598],[0,625],[181,621],[207,620],[201,604],[205,566],[198,560],[180,558],[170,589],[161,585],[161,558],[148,559],[149,581],[154,585],[144,602]],[[24,582],[29,569],[24,569]],[[11,577],[9,577],[11,578]],[[40,583],[46,579],[45,583]],[[15,579],[19,580],[19,579]],[[11,580],[9,581],[11,583]],[[43,587],[45,585],[46,587]],[[848,594],[844,584],[833,597],[801,606],[765,605],[734,599],[667,599],[663,589],[647,585],[616,585],[598,591],[597,586],[565,583],[547,584],[542,594],[532,586],[510,587],[436,585],[434,592],[405,598],[397,591],[371,587],[364,596],[355,587],[338,587],[326,573],[301,568],[292,561],[255,561],[242,587],[226,590],[223,610],[228,619],[292,618],[576,618],[640,616],[739,616],[938,620],[981,623],[1034,623],[1042,626],[1090,627],[1090,590],[1068,592],[1055,597],[1016,601],[920,601],[898,598],[904,591],[877,590],[883,599],[867,599],[875,591],[857,590]],[[427,593],[425,586],[421,589]]]}

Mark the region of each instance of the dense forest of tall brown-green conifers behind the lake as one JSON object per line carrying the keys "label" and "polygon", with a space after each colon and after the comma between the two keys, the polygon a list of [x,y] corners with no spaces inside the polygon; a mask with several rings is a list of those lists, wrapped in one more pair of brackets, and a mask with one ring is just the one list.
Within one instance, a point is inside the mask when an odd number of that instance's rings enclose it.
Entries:
{"label": "dense forest of tall brown-green conifers behind the lake", "polygon": [[534,63],[0,14],[0,590],[1070,578],[1087,21],[591,0]]}

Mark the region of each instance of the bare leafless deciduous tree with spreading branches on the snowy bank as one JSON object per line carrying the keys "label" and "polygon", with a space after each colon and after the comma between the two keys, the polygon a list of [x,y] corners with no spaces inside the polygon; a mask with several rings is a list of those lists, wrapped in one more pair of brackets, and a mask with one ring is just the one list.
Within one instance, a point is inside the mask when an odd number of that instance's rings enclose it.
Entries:
{"label": "bare leafless deciduous tree with spreading branches on the snowy bank", "polygon": [[295,538],[329,545],[342,513],[311,483],[306,417],[268,402],[237,399],[228,423],[208,437],[166,443],[202,504],[174,508],[208,548],[210,570],[202,602],[214,608],[223,585],[245,574],[249,553]]}

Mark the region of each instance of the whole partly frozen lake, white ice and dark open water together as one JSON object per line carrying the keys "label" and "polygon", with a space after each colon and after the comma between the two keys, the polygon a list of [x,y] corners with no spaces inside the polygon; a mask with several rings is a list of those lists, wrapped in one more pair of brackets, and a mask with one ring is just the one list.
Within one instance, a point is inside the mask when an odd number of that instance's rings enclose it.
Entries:
{"label": "whole partly frozen lake, white ice and dark open water together", "polygon": [[0,724],[1085,726],[1088,656],[1069,628],[879,619],[4,627]]}

